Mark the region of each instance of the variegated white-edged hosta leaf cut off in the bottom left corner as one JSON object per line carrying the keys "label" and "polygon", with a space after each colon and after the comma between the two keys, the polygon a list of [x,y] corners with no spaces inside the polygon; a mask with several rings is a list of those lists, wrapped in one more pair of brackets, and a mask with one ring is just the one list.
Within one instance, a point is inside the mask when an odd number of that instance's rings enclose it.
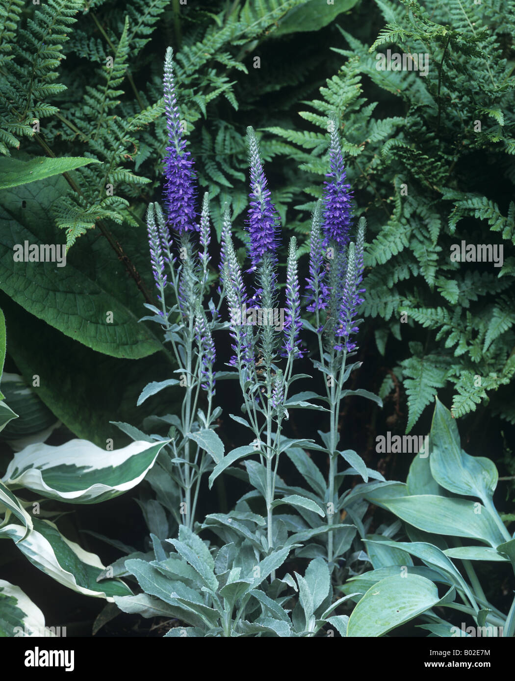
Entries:
{"label": "variegated white-edged hosta leaf cut off in the bottom left corner", "polygon": [[0,580],[0,638],[40,636],[44,626],[43,613],[27,594],[19,586]]}

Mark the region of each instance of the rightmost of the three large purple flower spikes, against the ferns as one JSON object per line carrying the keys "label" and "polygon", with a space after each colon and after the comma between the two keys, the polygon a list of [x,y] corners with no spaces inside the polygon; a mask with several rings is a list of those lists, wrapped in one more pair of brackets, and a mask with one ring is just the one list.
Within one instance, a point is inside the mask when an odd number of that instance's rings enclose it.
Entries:
{"label": "rightmost of the three large purple flower spikes, against the ferns", "polygon": [[330,241],[335,241],[338,246],[349,243],[349,229],[352,217],[352,192],[351,185],[345,183],[346,173],[343,164],[342,149],[336,116],[329,118],[329,132],[331,142],[329,146],[330,171],[326,174],[329,182],[324,182],[323,195],[323,222],[324,246]]}

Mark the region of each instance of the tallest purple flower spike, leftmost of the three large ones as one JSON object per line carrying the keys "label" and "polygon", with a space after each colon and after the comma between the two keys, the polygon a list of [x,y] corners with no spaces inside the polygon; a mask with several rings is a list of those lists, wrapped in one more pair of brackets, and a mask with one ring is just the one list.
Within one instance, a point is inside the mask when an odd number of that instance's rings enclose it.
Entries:
{"label": "tallest purple flower spike, leftmost of the three large ones", "polygon": [[164,204],[168,212],[166,224],[179,234],[188,230],[198,231],[196,225],[195,196],[193,182],[193,159],[186,151],[179,107],[175,98],[175,78],[173,76],[173,50],[166,50],[164,59],[164,109],[168,146],[164,158]]}

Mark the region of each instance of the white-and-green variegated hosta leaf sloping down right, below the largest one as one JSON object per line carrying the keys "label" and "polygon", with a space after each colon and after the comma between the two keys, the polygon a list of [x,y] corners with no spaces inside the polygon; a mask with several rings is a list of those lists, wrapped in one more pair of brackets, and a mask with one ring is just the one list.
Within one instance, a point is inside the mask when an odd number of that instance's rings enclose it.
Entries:
{"label": "white-and-green variegated hosta leaf sloping down right, below the largest one", "polygon": [[0,527],[0,539],[10,537],[25,557],[56,582],[87,596],[105,598],[114,603],[115,596],[132,596],[130,588],[121,580],[97,582],[105,569],[96,554],[80,548],[63,537],[49,520],[33,519],[33,529],[23,539],[25,528],[10,524]]}

